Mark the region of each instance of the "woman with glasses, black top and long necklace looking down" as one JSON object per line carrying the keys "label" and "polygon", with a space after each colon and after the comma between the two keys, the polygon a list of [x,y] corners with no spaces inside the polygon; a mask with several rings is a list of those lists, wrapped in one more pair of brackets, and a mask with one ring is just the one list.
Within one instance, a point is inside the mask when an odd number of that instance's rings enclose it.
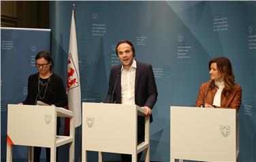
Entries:
{"label": "woman with glasses, black top and long necklace looking down", "polygon": [[[29,76],[27,98],[22,104],[36,105],[44,102],[51,106],[67,105],[67,94],[61,77],[52,73],[54,62],[47,51],[41,51],[35,56],[35,66],[38,73]],[[57,121],[59,134],[60,119]],[[34,147],[34,161],[40,161],[41,148]],[[50,148],[46,148],[46,161],[50,161]]]}

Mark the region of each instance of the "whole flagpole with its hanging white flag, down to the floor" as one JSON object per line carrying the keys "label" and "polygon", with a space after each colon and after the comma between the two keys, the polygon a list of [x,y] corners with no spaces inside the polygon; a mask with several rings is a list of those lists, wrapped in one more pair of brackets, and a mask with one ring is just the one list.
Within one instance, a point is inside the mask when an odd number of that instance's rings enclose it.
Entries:
{"label": "whole flagpole with its hanging white flag, down to the floor", "polygon": [[[81,92],[80,92],[80,75],[79,75],[79,63],[78,63],[78,45],[76,37],[76,21],[75,21],[75,3],[72,6],[71,25],[69,35],[69,56],[67,61],[67,108],[74,113],[74,131],[75,137],[75,150],[81,147],[82,137],[81,135]],[[65,134],[69,131],[69,120],[66,120]],[[75,155],[75,161],[81,161],[81,153],[77,152]]]}

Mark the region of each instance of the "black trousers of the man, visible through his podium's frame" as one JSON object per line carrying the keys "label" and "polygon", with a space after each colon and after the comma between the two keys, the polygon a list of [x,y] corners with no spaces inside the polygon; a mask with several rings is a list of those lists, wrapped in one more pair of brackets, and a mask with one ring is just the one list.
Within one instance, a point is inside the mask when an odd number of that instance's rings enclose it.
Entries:
{"label": "black trousers of the man, visible through his podium's frame", "polygon": [[[144,117],[138,117],[138,134],[137,134],[138,144],[144,142],[145,139],[145,119]],[[140,161],[142,157],[142,152],[138,153],[137,161]],[[121,154],[121,159],[123,162],[131,162],[131,155]]]}

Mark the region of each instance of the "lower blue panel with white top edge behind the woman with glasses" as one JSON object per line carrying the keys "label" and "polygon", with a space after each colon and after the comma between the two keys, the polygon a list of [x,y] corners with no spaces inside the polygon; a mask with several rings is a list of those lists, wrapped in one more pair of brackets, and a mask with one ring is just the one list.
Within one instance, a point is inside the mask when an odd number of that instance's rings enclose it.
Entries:
{"label": "lower blue panel with white top edge behind the woman with glasses", "polygon": [[[37,73],[35,55],[42,49],[50,50],[50,29],[1,28],[1,161],[6,157],[7,104],[25,100],[27,79]],[[27,147],[14,146],[13,157],[27,161]]]}

